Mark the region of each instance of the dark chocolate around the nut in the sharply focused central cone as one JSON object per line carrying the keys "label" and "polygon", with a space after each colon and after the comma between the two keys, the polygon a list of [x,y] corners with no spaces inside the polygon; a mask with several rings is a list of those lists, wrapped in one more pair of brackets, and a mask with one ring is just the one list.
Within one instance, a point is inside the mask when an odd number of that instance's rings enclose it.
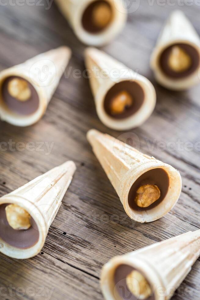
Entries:
{"label": "dark chocolate around the nut in the sharply focused central cone", "polygon": [[[140,186],[144,186],[147,184],[156,185],[160,190],[160,198],[156,200],[154,203],[149,205],[148,207],[139,207],[135,203],[136,191],[139,189]],[[129,196],[128,196],[128,203],[130,208],[136,211],[144,211],[149,210],[156,207],[160,204],[163,199],[165,198],[169,189],[169,175],[167,172],[162,168],[152,169],[147,171],[146,173],[142,174],[132,185]]]}

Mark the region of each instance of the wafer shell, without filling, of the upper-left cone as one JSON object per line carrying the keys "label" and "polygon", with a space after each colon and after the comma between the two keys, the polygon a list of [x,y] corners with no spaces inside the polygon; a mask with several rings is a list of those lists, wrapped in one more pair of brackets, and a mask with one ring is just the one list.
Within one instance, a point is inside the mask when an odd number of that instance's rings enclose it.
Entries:
{"label": "wafer shell, without filling, of the upper-left cone", "polygon": [[70,57],[71,50],[62,46],[0,72],[0,88],[7,77],[19,76],[29,81],[39,96],[38,110],[30,115],[20,115],[10,111],[0,96],[0,118],[16,126],[29,126],[42,118]]}

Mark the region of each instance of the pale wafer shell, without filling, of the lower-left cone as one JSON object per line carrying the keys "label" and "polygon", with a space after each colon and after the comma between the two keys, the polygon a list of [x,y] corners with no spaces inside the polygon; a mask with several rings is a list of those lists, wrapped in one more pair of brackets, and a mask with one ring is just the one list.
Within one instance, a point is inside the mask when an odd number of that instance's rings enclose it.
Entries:
{"label": "pale wafer shell, without filling, of the lower-left cone", "polygon": [[35,220],[39,231],[38,242],[28,249],[10,246],[0,238],[2,253],[13,258],[25,259],[40,252],[75,169],[75,163],[67,161],[0,198],[0,205],[12,203],[24,208]]}

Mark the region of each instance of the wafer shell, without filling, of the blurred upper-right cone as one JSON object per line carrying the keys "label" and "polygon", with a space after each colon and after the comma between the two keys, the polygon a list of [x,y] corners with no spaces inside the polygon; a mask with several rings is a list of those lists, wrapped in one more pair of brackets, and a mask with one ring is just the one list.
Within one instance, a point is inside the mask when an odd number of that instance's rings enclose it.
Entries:
{"label": "wafer shell, without filling, of the blurred upper-right cone", "polygon": [[158,83],[164,87],[172,90],[185,90],[199,83],[199,69],[186,78],[176,80],[166,77],[159,66],[159,57],[163,50],[176,43],[191,45],[195,47],[200,55],[200,38],[191,22],[180,10],[173,11],[160,33],[151,56],[151,68]]}

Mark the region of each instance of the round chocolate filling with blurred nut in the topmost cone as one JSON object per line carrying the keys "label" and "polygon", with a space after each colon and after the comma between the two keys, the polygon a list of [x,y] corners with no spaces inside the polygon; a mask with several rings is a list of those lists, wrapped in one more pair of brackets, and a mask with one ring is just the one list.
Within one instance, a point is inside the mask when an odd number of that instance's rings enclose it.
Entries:
{"label": "round chocolate filling with blurred nut in the topmost cone", "polygon": [[83,28],[90,33],[103,31],[112,21],[112,7],[105,0],[93,1],[85,9],[82,16]]}

